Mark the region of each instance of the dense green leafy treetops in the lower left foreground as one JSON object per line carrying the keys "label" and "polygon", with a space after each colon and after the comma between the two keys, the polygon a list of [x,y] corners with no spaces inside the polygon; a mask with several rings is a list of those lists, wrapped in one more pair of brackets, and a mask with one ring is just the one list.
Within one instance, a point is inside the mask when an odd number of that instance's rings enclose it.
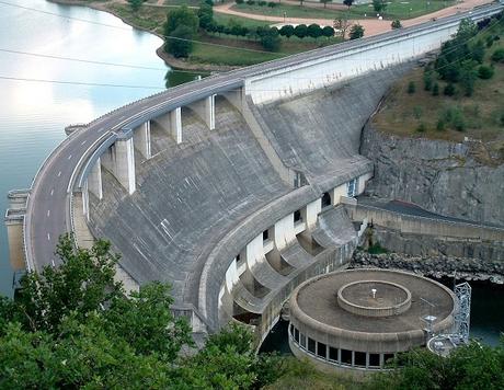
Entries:
{"label": "dense green leafy treetops in the lower left foreground", "polygon": [[110,249],[99,240],[75,250],[64,237],[60,266],[28,273],[14,301],[0,298],[1,389],[248,389],[282,372],[238,325],[182,356],[191,329],[172,316],[170,287],[148,284],[127,296]]}

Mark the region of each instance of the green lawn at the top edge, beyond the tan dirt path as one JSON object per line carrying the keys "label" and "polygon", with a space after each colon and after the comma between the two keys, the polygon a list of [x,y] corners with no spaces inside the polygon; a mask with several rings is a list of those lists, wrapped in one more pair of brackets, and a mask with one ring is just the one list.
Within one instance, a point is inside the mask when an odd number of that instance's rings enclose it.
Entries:
{"label": "green lawn at the top edge, beyond the tan dirt path", "polygon": [[[438,11],[443,8],[453,5],[455,1],[442,1],[442,0],[391,0],[387,7],[386,12],[383,12],[385,19],[410,19],[416,18],[426,13]],[[373,4],[362,4],[354,5],[350,11],[344,10],[334,10],[334,9],[323,9],[323,8],[310,8],[301,5],[290,5],[290,4],[279,4],[278,7],[260,7],[243,4],[234,4],[233,10],[253,13],[259,15],[267,16],[277,16],[284,18],[305,18],[305,19],[335,19],[343,15],[348,15],[348,18],[364,18],[366,14],[367,18],[375,18],[376,12],[373,9]]]}

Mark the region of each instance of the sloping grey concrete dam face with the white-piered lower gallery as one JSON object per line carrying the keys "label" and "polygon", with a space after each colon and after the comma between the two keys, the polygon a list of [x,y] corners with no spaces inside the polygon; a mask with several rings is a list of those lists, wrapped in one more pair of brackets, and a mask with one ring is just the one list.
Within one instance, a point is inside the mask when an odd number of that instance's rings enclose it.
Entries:
{"label": "sloping grey concrete dam face with the white-piered lower gallery", "polygon": [[262,337],[299,283],[350,260],[357,239],[345,211],[319,213],[350,188],[364,191],[373,165],[358,154],[362,127],[405,68],[278,103],[248,102],[279,161],[305,174],[298,187],[282,180],[260,133],[221,96],[214,130],[184,108],[181,144],[152,122],[152,158],[135,150],[134,194],[102,169],[91,231],[113,242],[139,285],[170,282],[175,305],[197,308],[210,329],[234,317],[259,325]]}

